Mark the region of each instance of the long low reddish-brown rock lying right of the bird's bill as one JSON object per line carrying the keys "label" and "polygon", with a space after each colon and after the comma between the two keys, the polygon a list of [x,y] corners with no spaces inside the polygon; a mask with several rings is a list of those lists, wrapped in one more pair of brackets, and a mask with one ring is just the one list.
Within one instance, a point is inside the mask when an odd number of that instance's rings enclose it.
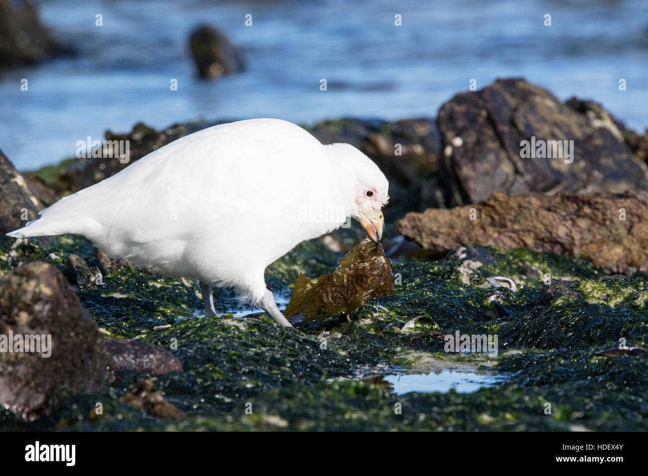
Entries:
{"label": "long low reddish-brown rock lying right of the bird's bill", "polygon": [[619,196],[494,193],[477,205],[410,212],[398,230],[439,255],[474,243],[582,256],[614,273],[648,270],[643,190]]}

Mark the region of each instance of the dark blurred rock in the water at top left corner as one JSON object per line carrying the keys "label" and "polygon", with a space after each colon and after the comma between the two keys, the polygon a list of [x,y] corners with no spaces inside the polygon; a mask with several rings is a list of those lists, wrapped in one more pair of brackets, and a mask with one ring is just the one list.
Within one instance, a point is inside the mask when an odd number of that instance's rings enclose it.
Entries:
{"label": "dark blurred rock in the water at top left corner", "polygon": [[0,0],[0,66],[38,63],[60,52],[32,1]]}

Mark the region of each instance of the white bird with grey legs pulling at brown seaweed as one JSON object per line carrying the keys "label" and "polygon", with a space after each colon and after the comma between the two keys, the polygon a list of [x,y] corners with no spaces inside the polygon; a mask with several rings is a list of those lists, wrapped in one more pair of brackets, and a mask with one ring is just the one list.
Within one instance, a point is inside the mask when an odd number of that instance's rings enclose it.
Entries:
{"label": "white bird with grey legs pulling at brown seaweed", "polygon": [[388,186],[350,144],[324,146],[284,120],[242,120],[171,142],[7,235],[81,234],[113,258],[197,278],[207,317],[216,315],[212,284],[233,286],[290,326],[266,267],[347,217],[380,240]]}

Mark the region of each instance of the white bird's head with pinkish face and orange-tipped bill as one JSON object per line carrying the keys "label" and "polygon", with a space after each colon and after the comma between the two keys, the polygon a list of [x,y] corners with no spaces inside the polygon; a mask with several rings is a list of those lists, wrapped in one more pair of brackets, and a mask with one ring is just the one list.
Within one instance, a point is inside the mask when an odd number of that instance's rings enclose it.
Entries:
{"label": "white bird's head with pinkish face and orange-tipped bill", "polygon": [[354,146],[333,145],[340,148],[341,158],[351,166],[355,176],[354,203],[350,205],[350,216],[360,221],[372,240],[379,242],[384,225],[382,207],[389,201],[389,182],[380,168]]}

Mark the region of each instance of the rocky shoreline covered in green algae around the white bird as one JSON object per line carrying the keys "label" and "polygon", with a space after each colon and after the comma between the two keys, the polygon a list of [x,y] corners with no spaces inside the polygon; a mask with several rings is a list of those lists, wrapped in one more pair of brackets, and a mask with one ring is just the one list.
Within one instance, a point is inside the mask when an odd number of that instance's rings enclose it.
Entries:
{"label": "rocky shoreline covered in green algae around the white bird", "polygon": [[[0,155],[0,231],[213,124],[107,132],[130,141],[128,163],[69,159],[19,174]],[[0,353],[0,427],[645,426],[648,361],[596,354],[619,342],[648,348],[647,134],[595,102],[563,103],[520,79],[457,95],[436,119],[307,129],[357,146],[388,176],[391,295],[361,306],[350,324],[334,317],[293,332],[219,289],[217,309],[231,314],[203,319],[192,282],[111,260],[80,237],[3,236],[0,334],[51,334],[69,350],[52,361]],[[520,144],[532,139],[573,148],[523,158]],[[299,273],[329,273],[362,238],[357,228],[299,245],[268,268],[268,286],[289,297]],[[498,335],[497,356],[446,352],[444,336],[456,332]],[[499,379],[467,393],[397,394],[386,381],[448,367]]]}

